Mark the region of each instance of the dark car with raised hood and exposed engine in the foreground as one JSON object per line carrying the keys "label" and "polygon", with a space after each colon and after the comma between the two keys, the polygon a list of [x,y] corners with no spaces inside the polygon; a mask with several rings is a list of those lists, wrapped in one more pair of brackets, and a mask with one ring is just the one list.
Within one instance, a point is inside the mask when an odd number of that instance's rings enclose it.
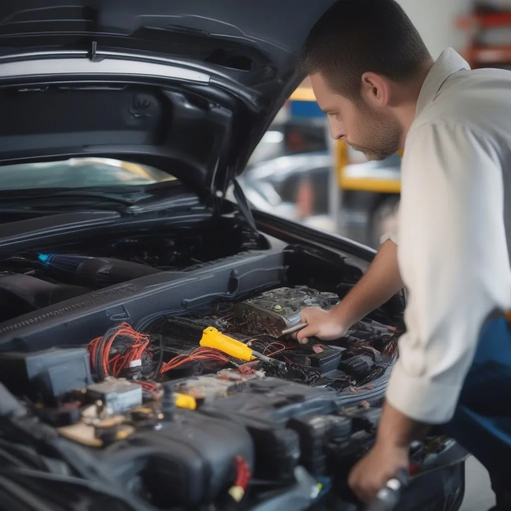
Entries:
{"label": "dark car with raised hood and exposed engine in the foreground", "polygon": [[[238,182],[332,3],[0,7],[1,509],[359,506],[405,295],[297,345],[375,251]],[[410,455],[398,509],[458,509],[467,453]]]}

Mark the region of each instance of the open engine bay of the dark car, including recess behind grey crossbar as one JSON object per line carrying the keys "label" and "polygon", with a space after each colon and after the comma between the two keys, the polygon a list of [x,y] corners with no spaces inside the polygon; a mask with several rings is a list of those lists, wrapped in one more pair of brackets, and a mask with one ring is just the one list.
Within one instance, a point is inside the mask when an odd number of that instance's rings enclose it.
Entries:
{"label": "open engine bay of the dark car, including recess behind grey crossbar", "polygon": [[[91,502],[99,491],[140,511],[353,499],[347,473],[374,442],[402,296],[336,341],[298,344],[282,331],[300,310],[334,307],[362,270],[226,222],[223,243],[210,226],[2,259],[0,459],[39,499],[77,480]],[[448,447],[431,438],[413,455]]]}

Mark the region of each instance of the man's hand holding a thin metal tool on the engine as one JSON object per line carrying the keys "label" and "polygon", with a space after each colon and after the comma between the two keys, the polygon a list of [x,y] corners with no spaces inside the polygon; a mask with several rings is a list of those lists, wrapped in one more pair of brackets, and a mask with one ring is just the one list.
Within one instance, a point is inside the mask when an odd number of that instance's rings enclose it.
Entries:
{"label": "man's hand holding a thin metal tool on the engine", "polygon": [[301,322],[308,326],[293,334],[301,344],[309,342],[310,337],[323,341],[333,341],[342,337],[351,325],[345,325],[335,309],[325,311],[319,307],[306,307],[301,311]]}

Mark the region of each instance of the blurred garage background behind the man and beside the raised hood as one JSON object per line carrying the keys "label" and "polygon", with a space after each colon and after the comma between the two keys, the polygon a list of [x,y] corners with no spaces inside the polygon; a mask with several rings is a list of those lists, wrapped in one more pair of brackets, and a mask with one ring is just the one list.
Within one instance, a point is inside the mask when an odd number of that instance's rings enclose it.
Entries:
{"label": "blurred garage background behind the man and beside the raised hood", "polygon": [[[448,47],[472,66],[511,69],[511,0],[398,0],[433,58]],[[240,182],[254,208],[378,248],[396,222],[401,157],[369,162],[330,138],[304,81],[276,116]]]}

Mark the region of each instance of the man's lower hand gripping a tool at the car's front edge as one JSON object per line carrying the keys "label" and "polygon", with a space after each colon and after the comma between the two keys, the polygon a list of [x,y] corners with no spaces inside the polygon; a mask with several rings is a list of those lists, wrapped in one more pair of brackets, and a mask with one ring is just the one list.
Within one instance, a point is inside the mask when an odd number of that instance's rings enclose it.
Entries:
{"label": "man's lower hand gripping a tool at the car's front edge", "polygon": [[408,447],[377,441],[350,473],[348,483],[353,493],[362,502],[374,499],[389,479],[408,469],[408,455]]}

